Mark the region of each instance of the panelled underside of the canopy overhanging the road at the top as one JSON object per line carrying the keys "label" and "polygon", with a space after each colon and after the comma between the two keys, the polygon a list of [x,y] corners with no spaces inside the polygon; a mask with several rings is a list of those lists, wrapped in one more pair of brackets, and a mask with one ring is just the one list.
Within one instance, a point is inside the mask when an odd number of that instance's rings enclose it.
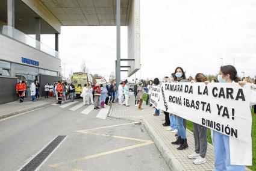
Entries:
{"label": "panelled underside of the canopy overhanging the road at the top", "polygon": [[[116,0],[40,1],[63,25],[116,25]],[[121,25],[127,25],[130,1],[121,0]]]}

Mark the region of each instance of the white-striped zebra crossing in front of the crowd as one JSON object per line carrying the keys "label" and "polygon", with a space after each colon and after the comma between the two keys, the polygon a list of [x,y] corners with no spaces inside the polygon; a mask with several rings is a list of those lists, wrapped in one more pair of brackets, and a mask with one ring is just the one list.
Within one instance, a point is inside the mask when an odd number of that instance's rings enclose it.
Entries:
{"label": "white-striped zebra crossing in front of the crowd", "polygon": [[[80,113],[86,114],[86,115],[90,114],[94,110],[94,105],[84,105],[83,102],[78,102],[78,101],[73,101],[73,102],[67,101],[66,104],[58,105],[54,103],[52,105],[63,108],[63,109],[68,109],[70,111],[76,111],[80,108],[83,108],[83,110]],[[109,110],[110,110],[109,106],[106,106],[105,108],[101,108],[97,110],[99,112],[96,117],[99,119],[106,119]]]}

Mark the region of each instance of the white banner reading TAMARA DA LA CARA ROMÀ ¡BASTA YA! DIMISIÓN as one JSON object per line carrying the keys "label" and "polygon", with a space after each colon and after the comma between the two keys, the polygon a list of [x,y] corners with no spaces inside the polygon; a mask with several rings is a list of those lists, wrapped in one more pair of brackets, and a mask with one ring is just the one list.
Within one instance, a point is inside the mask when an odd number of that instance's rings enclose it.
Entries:
{"label": "white banner reading TAMARA DA LA CARA ROM\u00c0 \u00a1BASTA YA! DIMISI\u00d3N", "polygon": [[239,140],[251,141],[249,85],[173,82],[161,85],[158,108]]}

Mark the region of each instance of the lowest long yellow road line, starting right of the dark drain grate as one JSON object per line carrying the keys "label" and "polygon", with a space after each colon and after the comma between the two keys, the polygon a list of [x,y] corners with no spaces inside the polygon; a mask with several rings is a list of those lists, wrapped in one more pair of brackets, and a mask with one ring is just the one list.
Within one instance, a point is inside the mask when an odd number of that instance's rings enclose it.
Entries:
{"label": "lowest long yellow road line, starting right of the dark drain grate", "polygon": [[57,168],[57,167],[60,167],[60,166],[62,166],[62,165],[64,165],[64,164],[76,163],[76,162],[78,162],[78,161],[86,161],[86,160],[88,160],[88,159],[100,157],[100,156],[103,156],[103,155],[113,154],[113,153],[116,153],[116,152],[126,151],[126,150],[128,150],[128,149],[134,149],[134,148],[139,148],[139,147],[146,146],[146,145],[151,145],[152,143],[154,143],[154,142],[148,140],[147,142],[145,142],[145,143],[140,143],[140,144],[138,144],[138,145],[132,145],[132,146],[127,146],[127,147],[125,147],[125,148],[119,148],[119,149],[114,149],[114,150],[111,150],[111,151],[101,152],[101,153],[99,153],[99,154],[88,155],[88,156],[86,156],[86,157],[77,158],[77,159],[72,160],[72,161],[61,162],[61,163],[55,163],[55,164],[49,164],[49,166],[50,166],[50,167],[53,167],[53,168]]}

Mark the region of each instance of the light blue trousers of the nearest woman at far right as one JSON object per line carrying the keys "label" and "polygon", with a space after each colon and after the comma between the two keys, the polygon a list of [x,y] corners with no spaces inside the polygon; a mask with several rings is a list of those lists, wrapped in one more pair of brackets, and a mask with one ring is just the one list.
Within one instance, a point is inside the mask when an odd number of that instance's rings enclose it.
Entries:
{"label": "light blue trousers of the nearest woman at far right", "polygon": [[230,164],[229,137],[227,135],[223,135],[217,131],[213,131],[213,146],[215,158],[214,171],[245,170],[245,166]]}

